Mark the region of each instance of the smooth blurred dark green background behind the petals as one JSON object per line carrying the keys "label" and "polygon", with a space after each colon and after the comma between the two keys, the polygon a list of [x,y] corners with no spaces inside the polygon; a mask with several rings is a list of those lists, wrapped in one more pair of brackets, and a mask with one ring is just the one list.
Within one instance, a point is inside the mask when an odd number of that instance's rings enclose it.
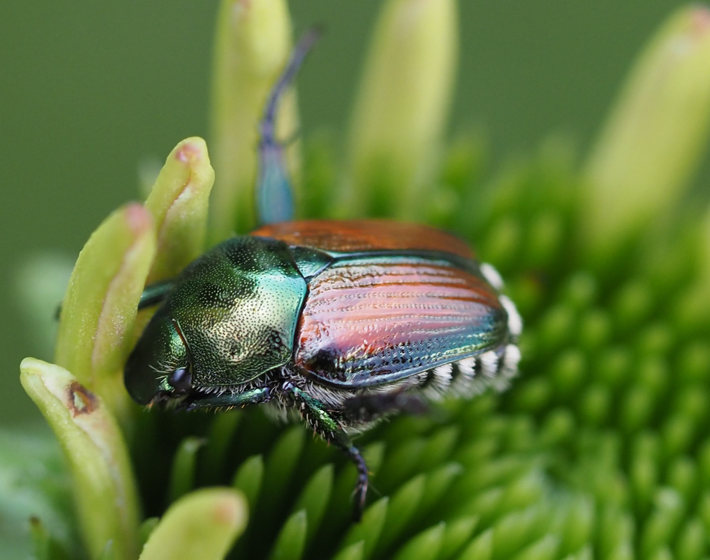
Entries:
{"label": "smooth blurred dark green background behind the petals", "polygon": [[[292,0],[295,33],[327,35],[299,80],[302,128],[342,131],[380,2]],[[594,137],[644,41],[681,2],[461,0],[451,131],[483,131],[491,159],[549,133]],[[217,0],[3,0],[0,14],[0,422],[35,419],[18,363],[38,356],[16,270],[38,251],[75,258],[138,166],[207,136]],[[707,175],[707,174],[705,174]],[[51,314],[53,309],[48,309]],[[48,358],[49,356],[38,356]]]}

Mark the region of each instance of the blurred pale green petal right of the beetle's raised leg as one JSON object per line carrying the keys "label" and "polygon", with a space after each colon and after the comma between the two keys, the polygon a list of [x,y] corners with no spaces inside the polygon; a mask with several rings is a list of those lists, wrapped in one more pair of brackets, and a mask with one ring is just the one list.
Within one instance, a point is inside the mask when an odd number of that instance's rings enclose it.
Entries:
{"label": "blurred pale green petal right of the beetle's raised leg", "polygon": [[[389,0],[378,19],[349,139],[349,206],[412,218],[425,209],[457,60],[454,0]],[[376,187],[386,192],[373,192]],[[384,195],[384,199],[383,199]],[[379,204],[391,204],[387,212]]]}

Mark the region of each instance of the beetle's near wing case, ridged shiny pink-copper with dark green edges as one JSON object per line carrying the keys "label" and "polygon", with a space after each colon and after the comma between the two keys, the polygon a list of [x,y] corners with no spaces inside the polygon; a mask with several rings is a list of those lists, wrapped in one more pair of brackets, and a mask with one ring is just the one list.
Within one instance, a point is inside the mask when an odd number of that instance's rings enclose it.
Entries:
{"label": "beetle's near wing case, ridged shiny pink-copper with dark green edges", "polygon": [[338,260],[309,282],[295,364],[364,388],[505,346],[508,313],[473,270],[396,253]]}

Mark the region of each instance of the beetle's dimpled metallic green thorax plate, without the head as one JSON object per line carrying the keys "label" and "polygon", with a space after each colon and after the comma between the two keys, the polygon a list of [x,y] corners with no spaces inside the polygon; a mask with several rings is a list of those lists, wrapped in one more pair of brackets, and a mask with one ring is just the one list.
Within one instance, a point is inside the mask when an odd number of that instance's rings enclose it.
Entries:
{"label": "beetle's dimpled metallic green thorax plate, without the head", "polygon": [[287,363],[305,295],[273,239],[231,238],[185,269],[165,303],[190,341],[196,385],[246,383]]}

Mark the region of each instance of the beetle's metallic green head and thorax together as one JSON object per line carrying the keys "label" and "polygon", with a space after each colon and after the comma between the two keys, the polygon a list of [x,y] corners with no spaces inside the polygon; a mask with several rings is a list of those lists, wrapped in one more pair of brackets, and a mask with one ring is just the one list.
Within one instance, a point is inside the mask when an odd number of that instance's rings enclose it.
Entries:
{"label": "beetle's metallic green head and thorax together", "polygon": [[285,243],[254,236],[224,241],[175,279],[129,360],[127,387],[148,402],[170,390],[167,376],[176,368],[187,368],[196,387],[211,388],[285,365],[305,295]]}

